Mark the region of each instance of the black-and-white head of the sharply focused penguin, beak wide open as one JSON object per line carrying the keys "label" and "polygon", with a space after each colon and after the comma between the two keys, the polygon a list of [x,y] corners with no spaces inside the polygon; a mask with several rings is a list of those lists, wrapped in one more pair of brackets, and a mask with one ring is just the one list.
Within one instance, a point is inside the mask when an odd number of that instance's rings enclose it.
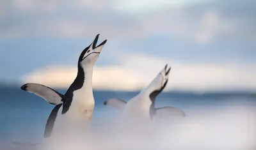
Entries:
{"label": "black-and-white head of the sharply focused penguin, beak wide open", "polygon": [[104,41],[102,41],[102,43],[100,43],[98,46],[96,46],[97,41],[99,39],[99,35],[100,34],[97,34],[97,36],[93,40],[92,44],[89,45],[88,47],[86,47],[83,50],[83,52],[81,53],[78,63],[81,64],[82,66],[86,65],[86,64],[94,64],[95,61],[97,60],[97,57],[100,54],[100,51],[102,50],[102,47],[107,42],[107,40],[104,40]]}

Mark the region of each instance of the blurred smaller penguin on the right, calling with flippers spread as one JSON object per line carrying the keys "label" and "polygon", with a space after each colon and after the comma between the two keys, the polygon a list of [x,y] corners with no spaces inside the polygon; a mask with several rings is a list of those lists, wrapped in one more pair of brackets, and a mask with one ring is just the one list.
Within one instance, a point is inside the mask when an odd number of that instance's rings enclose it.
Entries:
{"label": "blurred smaller penguin on the right, calling with flippers spread", "polygon": [[124,101],[119,98],[109,98],[104,101],[104,105],[115,107],[122,112],[122,118],[137,119],[154,122],[156,117],[166,118],[172,114],[180,117],[186,116],[183,110],[175,107],[156,108],[156,97],[161,93],[168,83],[168,76],[171,67],[166,64],[164,69],[152,80],[152,82],[142,89],[139,94],[131,98],[129,101]]}

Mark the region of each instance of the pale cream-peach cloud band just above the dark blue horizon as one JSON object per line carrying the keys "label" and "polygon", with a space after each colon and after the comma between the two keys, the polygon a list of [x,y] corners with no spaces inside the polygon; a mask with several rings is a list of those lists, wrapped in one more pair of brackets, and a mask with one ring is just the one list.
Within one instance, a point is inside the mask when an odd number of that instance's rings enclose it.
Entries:
{"label": "pale cream-peach cloud band just above the dark blue horizon", "polygon": [[[135,53],[119,57],[118,65],[95,66],[95,89],[134,91],[147,86],[166,63],[172,66],[166,90],[221,91],[255,90],[253,66],[184,64],[163,57]],[[47,66],[22,77],[22,82],[36,82],[67,88],[76,77],[76,66]]]}

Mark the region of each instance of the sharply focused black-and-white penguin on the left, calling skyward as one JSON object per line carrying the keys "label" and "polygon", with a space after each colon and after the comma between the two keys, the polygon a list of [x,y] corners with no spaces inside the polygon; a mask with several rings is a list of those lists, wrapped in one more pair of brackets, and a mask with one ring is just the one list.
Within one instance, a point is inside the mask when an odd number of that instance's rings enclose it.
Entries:
{"label": "sharply focused black-and-white penguin on the left, calling skyward", "polygon": [[[99,34],[95,40],[86,47],[79,56],[77,63],[77,76],[65,94],[58,93],[51,87],[42,84],[27,83],[20,88],[34,93],[52,105],[56,105],[47,119],[44,139],[51,137],[52,132],[58,129],[60,134],[69,134],[68,130],[77,130],[79,127],[90,127],[92,121],[94,98],[92,89],[93,66],[107,40],[97,46]],[[74,125],[74,126],[73,126]],[[58,132],[56,132],[58,133]]]}

